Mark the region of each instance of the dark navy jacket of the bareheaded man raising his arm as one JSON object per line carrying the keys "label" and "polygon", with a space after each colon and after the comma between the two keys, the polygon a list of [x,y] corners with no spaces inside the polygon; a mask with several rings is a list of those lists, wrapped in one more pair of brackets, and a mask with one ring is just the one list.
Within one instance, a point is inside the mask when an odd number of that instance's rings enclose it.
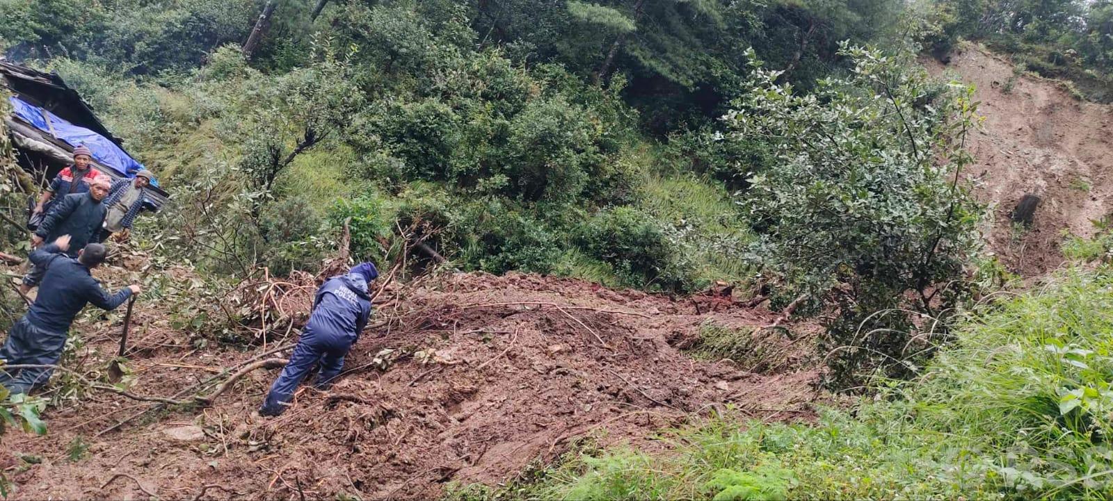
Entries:
{"label": "dark navy jacket of the bareheaded man raising his arm", "polygon": [[27,311],[27,320],[39,329],[65,333],[86,303],[115,310],[131,297],[131,289],[108,295],[89,269],[48,243],[31,252],[31,262],[47,268],[39,284],[39,295]]}

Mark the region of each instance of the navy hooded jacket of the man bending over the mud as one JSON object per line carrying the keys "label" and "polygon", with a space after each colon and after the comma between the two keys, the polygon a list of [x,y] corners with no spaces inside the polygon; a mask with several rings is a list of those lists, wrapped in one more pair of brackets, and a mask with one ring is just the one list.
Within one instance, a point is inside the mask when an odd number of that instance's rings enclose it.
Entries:
{"label": "navy hooded jacket of the man bending over the mud", "polygon": [[317,289],[313,300],[313,314],[305,324],[303,335],[321,335],[337,340],[359,339],[371,318],[371,294],[363,277],[346,274],[333,277]]}

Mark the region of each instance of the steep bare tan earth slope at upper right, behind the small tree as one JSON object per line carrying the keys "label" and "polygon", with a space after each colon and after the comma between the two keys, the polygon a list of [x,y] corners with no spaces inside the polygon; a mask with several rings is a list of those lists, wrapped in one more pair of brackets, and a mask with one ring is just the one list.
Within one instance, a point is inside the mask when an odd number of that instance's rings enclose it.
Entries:
{"label": "steep bare tan earth slope at upper right, behind the small tree", "polygon": [[[1094,232],[1091,220],[1113,210],[1113,108],[1074,99],[1062,84],[1018,77],[1006,60],[964,44],[946,67],[977,86],[984,130],[971,137],[967,174],[991,203],[986,238],[1013,271],[1043,274],[1063,262],[1063,232]],[[1009,217],[1025,194],[1042,199],[1031,229]]]}

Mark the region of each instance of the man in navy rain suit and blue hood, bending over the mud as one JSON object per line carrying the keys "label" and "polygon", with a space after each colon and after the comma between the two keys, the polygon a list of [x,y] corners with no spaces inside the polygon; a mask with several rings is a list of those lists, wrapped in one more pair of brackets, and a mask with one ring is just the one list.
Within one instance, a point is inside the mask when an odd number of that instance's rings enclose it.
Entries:
{"label": "man in navy rain suit and blue hood, bending over the mud", "polygon": [[314,364],[321,372],[314,383],[317,389],[327,390],[344,368],[344,355],[359,339],[367,319],[371,318],[371,294],[367,283],[378,277],[375,265],[365,262],[353,268],[348,274],[333,277],[317,289],[313,299],[313,313],[302,330],[302,337],[294,347],[286,368],[270,385],[259,415],[278,415],[289,407],[294,390],[309,373]]}

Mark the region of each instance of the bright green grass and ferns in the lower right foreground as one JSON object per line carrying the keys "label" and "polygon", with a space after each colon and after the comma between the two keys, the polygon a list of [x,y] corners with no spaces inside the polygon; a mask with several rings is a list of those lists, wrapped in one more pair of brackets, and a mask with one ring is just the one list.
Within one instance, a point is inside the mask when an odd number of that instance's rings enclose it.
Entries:
{"label": "bright green grass and ferns in the lower right foreground", "polygon": [[570,453],[514,497],[1111,499],[1110,332],[1113,272],[1068,270],[981,307],[919,379],[816,423],[728,411],[661,432],[666,452]]}

